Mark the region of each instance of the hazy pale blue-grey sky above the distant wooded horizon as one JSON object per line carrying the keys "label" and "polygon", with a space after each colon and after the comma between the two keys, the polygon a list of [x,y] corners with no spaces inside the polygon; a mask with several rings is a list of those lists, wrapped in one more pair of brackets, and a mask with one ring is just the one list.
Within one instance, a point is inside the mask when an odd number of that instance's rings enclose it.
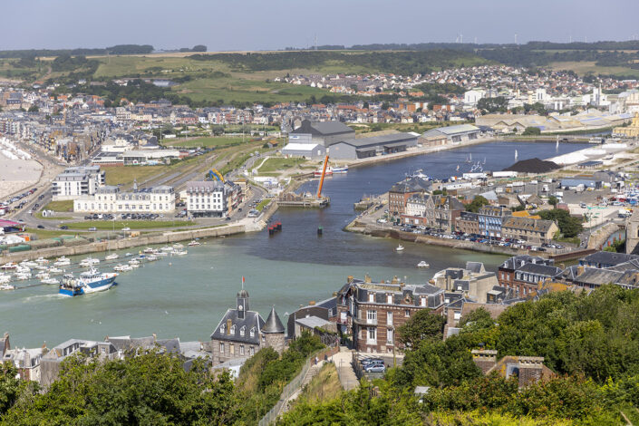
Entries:
{"label": "hazy pale blue-grey sky above the distant wooded horizon", "polygon": [[2,0],[0,50],[639,40],[639,0]]}

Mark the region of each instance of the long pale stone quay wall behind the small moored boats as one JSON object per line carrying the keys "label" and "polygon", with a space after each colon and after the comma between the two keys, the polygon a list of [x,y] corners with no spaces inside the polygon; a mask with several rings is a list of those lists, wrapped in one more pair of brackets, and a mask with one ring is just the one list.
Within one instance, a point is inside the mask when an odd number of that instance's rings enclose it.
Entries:
{"label": "long pale stone quay wall behind the small moored boats", "polygon": [[243,234],[244,232],[246,232],[245,225],[230,225],[217,228],[195,228],[176,232],[164,232],[162,234],[150,234],[140,237],[125,237],[121,239],[96,241],[79,246],[48,247],[38,250],[7,253],[5,256],[0,257],[0,262],[20,262],[23,260],[33,260],[38,257],[79,256],[110,250],[122,250],[131,247],[172,244],[195,238],[226,237],[234,234]]}

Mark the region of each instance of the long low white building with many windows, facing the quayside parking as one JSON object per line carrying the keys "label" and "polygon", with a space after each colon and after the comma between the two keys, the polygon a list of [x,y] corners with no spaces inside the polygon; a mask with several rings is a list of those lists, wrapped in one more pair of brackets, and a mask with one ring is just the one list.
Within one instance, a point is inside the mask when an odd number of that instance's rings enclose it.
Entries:
{"label": "long low white building with many windows, facing the quayside parking", "polygon": [[173,187],[160,186],[135,192],[120,192],[120,188],[105,186],[92,196],[73,201],[78,213],[173,213],[175,194]]}

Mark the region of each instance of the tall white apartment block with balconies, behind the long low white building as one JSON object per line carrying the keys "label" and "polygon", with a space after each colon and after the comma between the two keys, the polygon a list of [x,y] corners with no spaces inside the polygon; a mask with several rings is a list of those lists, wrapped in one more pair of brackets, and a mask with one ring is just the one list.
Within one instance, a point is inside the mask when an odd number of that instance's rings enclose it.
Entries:
{"label": "tall white apartment block with balconies, behind the long low white building", "polygon": [[64,169],[53,179],[53,201],[75,199],[93,195],[104,185],[104,172],[100,166],[80,166]]}

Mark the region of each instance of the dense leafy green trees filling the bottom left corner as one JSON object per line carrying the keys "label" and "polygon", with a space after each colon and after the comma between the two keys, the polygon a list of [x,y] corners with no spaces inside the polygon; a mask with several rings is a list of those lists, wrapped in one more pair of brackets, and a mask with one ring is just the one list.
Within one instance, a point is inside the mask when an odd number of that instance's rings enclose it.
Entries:
{"label": "dense leafy green trees filling the bottom left corner", "polygon": [[4,424],[232,424],[239,420],[228,373],[217,377],[196,361],[142,353],[123,361],[72,356],[47,392],[18,401]]}

